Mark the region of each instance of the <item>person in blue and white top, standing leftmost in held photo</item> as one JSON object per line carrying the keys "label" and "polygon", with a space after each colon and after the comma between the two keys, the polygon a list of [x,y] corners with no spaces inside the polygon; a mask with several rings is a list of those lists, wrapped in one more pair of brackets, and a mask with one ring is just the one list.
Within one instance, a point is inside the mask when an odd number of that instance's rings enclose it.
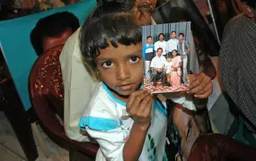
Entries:
{"label": "person in blue and white top, standing leftmost in held photo", "polygon": [[145,74],[146,80],[150,81],[150,62],[154,58],[154,45],[152,43],[152,37],[146,37],[146,44],[142,48],[143,58],[145,60]]}

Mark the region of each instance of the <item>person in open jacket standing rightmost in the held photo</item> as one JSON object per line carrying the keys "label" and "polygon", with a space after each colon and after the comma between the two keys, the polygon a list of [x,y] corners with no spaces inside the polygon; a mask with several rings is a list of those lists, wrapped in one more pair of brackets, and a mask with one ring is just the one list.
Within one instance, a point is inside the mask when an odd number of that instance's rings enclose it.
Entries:
{"label": "person in open jacket standing rightmost in the held photo", "polygon": [[182,61],[182,81],[184,86],[188,86],[188,59],[189,59],[189,52],[190,46],[188,42],[184,39],[184,34],[181,32],[179,34],[179,43],[178,43],[178,53],[181,55]]}

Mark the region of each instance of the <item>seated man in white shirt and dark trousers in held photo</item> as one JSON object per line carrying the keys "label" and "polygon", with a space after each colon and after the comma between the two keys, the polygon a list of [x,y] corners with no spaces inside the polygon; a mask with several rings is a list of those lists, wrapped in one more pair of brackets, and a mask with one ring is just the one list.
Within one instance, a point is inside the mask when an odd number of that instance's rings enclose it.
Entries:
{"label": "seated man in white shirt and dark trousers in held photo", "polygon": [[158,48],[156,51],[156,56],[151,61],[150,68],[152,70],[151,78],[153,81],[154,88],[156,89],[156,81],[160,77],[162,80],[162,86],[166,84],[166,71],[164,70],[164,65],[166,63],[166,58],[163,56],[163,48]]}

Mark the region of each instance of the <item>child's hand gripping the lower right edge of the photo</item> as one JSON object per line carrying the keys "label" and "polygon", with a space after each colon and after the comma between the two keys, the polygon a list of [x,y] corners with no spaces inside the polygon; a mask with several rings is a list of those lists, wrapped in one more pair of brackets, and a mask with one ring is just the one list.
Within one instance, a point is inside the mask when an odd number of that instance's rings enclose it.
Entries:
{"label": "child's hand gripping the lower right edge of the photo", "polygon": [[213,91],[211,78],[204,72],[199,74],[190,74],[190,86],[188,93],[194,94],[195,97],[207,98]]}

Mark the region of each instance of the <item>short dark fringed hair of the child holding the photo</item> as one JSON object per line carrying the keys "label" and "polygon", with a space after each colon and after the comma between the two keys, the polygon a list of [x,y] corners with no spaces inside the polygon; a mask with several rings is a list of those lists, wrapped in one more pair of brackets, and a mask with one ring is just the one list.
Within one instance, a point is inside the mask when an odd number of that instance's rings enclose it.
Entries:
{"label": "short dark fringed hair of the child holding the photo", "polygon": [[[84,60],[96,70],[96,57],[106,47],[130,46],[142,42],[140,27],[131,9],[136,1],[110,1],[100,4],[84,22],[80,48]],[[132,3],[132,4],[131,4]]]}

